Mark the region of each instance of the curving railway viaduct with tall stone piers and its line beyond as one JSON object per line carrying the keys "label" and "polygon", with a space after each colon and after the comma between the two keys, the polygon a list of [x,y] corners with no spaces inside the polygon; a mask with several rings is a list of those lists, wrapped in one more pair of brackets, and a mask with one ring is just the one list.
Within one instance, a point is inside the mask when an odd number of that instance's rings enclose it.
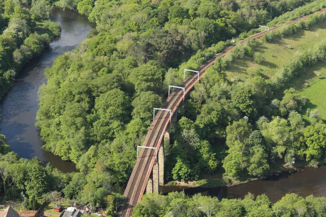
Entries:
{"label": "curving railway viaduct with tall stone piers and its line beyond", "polygon": [[[316,13],[321,13],[325,11],[326,8],[321,9]],[[244,44],[245,41],[251,40],[253,38],[259,39],[263,34],[268,31],[275,31],[284,25],[289,25],[291,23],[296,23],[298,20],[305,20],[309,15],[300,17],[296,20],[289,21],[287,23],[281,24],[279,26],[270,28],[269,30],[262,31],[260,33],[254,34],[245,40],[237,42],[236,44]],[[236,45],[235,44],[235,45]],[[169,94],[169,98],[164,102],[162,109],[156,109],[157,114],[154,113],[154,119],[145,137],[143,146],[140,147],[140,153],[137,156],[137,161],[134,169],[131,173],[129,181],[127,183],[124,200],[119,209],[119,216],[130,217],[132,216],[132,211],[134,207],[140,202],[141,197],[146,189],[146,192],[158,192],[159,185],[163,185],[164,181],[164,137],[165,140],[169,140],[169,130],[168,126],[176,112],[176,109],[180,103],[184,100],[184,97],[189,94],[193,86],[200,80],[203,76],[205,70],[214,64],[216,57],[225,56],[227,53],[233,50],[233,46],[226,48],[224,51],[216,54],[212,59],[208,60],[206,63],[202,64],[198,71],[193,71],[197,73],[190,74],[184,81],[180,84],[180,88],[177,91],[173,91]],[[154,112],[156,111],[154,109]],[[158,160],[157,160],[158,159]]]}

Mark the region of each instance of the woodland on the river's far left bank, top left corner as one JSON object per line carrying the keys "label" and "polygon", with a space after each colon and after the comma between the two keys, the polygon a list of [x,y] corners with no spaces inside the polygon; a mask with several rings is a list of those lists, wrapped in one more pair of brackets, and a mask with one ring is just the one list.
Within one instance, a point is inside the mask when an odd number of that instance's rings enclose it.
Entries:
{"label": "woodland on the river's far left bank, top left corner", "polygon": [[49,3],[34,1],[31,9],[19,1],[0,1],[0,96],[12,85],[25,63],[37,57],[61,27],[48,19]]}

